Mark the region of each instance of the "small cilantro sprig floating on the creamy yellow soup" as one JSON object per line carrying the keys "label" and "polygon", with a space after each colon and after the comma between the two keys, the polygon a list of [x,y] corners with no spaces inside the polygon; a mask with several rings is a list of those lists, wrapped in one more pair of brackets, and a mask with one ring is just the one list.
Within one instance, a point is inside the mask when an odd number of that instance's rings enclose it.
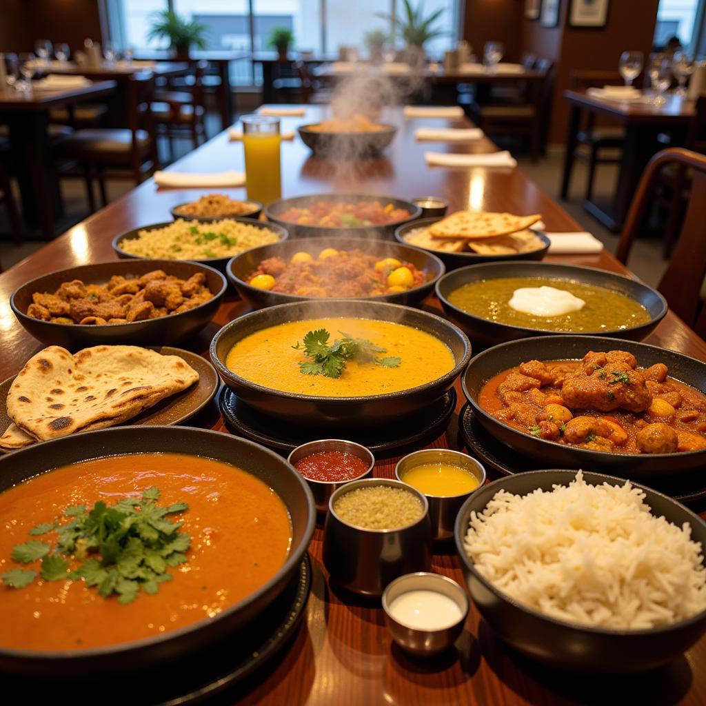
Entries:
{"label": "small cilantro sprig floating on the creamy yellow soup", "polygon": [[374,363],[383,368],[397,368],[402,362],[397,356],[379,358],[377,354],[387,352],[386,349],[365,338],[355,338],[343,331],[339,333],[343,338],[328,345],[330,333],[325,328],[309,331],[302,343],[297,342],[296,346],[292,346],[295,350],[303,350],[304,355],[311,359],[299,363],[299,370],[304,375],[339,378],[346,361],[350,359],[361,363]]}

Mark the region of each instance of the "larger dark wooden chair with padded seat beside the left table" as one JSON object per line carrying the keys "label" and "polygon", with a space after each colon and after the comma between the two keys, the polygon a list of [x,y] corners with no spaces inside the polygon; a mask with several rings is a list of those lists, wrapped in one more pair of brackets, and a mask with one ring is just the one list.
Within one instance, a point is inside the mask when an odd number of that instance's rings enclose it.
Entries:
{"label": "larger dark wooden chair with padded seat beside the left table", "polygon": [[107,205],[106,179],[132,179],[140,184],[157,168],[157,143],[151,104],[155,91],[152,73],[136,73],[128,80],[128,127],[77,130],[56,145],[56,157],[78,164],[93,208],[93,180],[98,181],[102,204]]}

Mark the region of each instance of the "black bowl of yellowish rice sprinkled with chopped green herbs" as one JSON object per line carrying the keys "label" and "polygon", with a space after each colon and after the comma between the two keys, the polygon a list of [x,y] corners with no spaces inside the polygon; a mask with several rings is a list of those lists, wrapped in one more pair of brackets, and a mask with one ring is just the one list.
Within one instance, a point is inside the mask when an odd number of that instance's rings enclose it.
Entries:
{"label": "black bowl of yellowish rice sprinkled with chopped green herbs", "polygon": [[282,226],[253,218],[210,222],[177,218],[122,233],[113,239],[113,249],[121,258],[189,260],[225,273],[233,256],[287,237]]}

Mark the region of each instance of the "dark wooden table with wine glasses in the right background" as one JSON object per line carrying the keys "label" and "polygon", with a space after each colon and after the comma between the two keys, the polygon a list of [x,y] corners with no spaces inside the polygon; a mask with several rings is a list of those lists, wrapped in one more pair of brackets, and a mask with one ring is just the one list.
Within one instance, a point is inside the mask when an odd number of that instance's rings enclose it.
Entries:
{"label": "dark wooden table with wine glasses in the right background", "polygon": [[582,114],[602,116],[603,119],[625,127],[623,156],[611,199],[608,203],[589,199],[583,202],[588,213],[606,228],[619,231],[638,188],[642,170],[655,152],[664,149],[664,143],[660,143],[657,137],[660,133],[670,133],[671,146],[682,144],[688,125],[695,116],[695,104],[674,93],[666,94],[666,101],[661,106],[649,100],[609,100],[580,90],[567,90],[563,95],[570,105],[571,113],[561,175],[562,199],[568,198]]}

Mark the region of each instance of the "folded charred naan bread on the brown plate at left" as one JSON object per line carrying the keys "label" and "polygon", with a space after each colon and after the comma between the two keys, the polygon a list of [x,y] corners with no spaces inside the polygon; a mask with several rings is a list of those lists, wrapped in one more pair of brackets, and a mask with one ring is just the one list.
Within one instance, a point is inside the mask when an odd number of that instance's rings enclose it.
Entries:
{"label": "folded charred naan bread on the brown plate at left", "polygon": [[95,346],[72,355],[49,346],[29,359],[8,391],[12,424],[0,448],[120,424],[196,381],[183,359],[146,348]]}

